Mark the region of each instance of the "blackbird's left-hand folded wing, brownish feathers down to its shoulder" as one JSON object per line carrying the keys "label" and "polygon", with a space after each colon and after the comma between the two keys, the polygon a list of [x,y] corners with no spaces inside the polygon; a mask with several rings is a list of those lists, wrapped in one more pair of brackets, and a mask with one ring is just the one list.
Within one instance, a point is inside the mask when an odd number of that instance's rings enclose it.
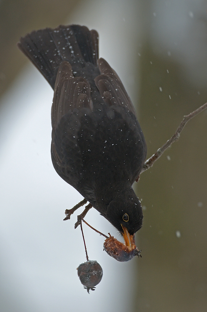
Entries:
{"label": "blackbird's left-hand folded wing, brownish feathers down to its shoulder", "polygon": [[[63,153],[64,144],[71,145],[76,153],[77,162],[81,162],[81,156],[76,139],[79,131],[79,118],[75,109],[89,109],[91,111],[91,97],[89,82],[82,77],[74,77],[69,62],[63,61],[59,67],[55,81],[55,91],[51,109],[52,119],[52,144],[51,155],[54,167],[61,176],[61,170],[73,167],[73,160],[68,161]],[[70,122],[70,127],[68,126]],[[67,131],[65,131],[67,129]],[[74,164],[75,165],[75,164]],[[69,168],[68,168],[69,169]],[[69,171],[71,171],[69,169]]]}

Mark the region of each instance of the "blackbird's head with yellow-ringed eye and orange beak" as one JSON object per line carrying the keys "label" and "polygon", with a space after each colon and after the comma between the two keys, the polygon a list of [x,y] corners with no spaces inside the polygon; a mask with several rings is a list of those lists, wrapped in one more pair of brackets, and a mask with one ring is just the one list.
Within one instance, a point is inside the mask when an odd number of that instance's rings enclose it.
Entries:
{"label": "blackbird's head with yellow-ringed eye and orange beak", "polygon": [[[135,194],[134,194],[135,195]],[[134,234],[142,227],[142,206],[138,197],[118,197],[107,209],[108,221],[123,235],[126,246],[135,244]]]}

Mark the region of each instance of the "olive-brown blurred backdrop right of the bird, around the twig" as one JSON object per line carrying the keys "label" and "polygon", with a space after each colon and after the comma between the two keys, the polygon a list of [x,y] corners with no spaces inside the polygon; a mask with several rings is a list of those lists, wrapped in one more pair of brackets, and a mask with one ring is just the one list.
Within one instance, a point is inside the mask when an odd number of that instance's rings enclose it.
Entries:
{"label": "olive-brown blurred backdrop right of the bird, around the twig", "polygon": [[[183,115],[206,102],[207,90],[184,80],[183,68],[155,55],[149,44],[142,56],[139,121],[149,158],[175,133]],[[204,111],[141,174],[137,194],[146,210],[137,233],[142,259],[136,261],[134,311],[206,311],[206,134]]]}

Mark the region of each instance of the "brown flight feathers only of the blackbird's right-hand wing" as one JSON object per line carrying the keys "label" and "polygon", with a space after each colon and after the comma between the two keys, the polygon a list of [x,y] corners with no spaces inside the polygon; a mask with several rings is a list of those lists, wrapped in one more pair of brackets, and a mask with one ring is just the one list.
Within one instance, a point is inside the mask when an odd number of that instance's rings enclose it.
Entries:
{"label": "brown flight feathers only of the blackbird's right-hand wing", "polygon": [[101,75],[94,80],[104,101],[110,106],[119,105],[126,107],[136,116],[132,101],[117,73],[103,58],[99,58],[97,64]]}

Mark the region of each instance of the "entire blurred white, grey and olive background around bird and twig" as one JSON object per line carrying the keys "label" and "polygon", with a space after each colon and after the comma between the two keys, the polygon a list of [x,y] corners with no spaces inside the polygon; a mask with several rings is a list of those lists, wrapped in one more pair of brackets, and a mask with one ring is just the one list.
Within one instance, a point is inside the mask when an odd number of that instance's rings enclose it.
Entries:
{"label": "entire blurred white, grey and olive background around bird and twig", "polygon": [[[103,278],[90,295],[80,284],[77,214],[62,220],[82,197],[52,167],[52,89],[16,46],[32,30],[71,23],[99,32],[99,55],[137,109],[148,157],[207,101],[206,1],[0,1],[0,310],[206,311],[207,110],[134,185],[142,259],[115,261],[83,226]],[[86,221],[117,237],[95,209]]]}

